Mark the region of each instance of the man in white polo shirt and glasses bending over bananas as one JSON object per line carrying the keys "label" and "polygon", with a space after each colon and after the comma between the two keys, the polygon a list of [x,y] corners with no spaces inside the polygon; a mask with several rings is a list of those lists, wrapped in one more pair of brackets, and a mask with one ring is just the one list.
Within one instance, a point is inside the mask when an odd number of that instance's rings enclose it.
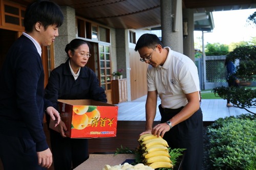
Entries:
{"label": "man in white polo shirt and glasses bending over bananas", "polygon": [[[154,34],[143,34],[135,47],[148,65],[146,126],[144,133],[162,136],[170,148],[185,148],[182,169],[201,170],[203,116],[198,70],[187,56],[163,47]],[[157,96],[161,123],[153,127]]]}

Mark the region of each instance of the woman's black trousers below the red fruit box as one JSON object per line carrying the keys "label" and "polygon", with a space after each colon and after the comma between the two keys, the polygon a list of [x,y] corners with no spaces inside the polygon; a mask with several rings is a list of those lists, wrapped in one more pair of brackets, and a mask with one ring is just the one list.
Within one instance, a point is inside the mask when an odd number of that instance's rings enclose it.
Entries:
{"label": "woman's black trousers below the red fruit box", "polygon": [[70,170],[89,158],[88,139],[60,136],[50,129],[51,147],[55,170]]}

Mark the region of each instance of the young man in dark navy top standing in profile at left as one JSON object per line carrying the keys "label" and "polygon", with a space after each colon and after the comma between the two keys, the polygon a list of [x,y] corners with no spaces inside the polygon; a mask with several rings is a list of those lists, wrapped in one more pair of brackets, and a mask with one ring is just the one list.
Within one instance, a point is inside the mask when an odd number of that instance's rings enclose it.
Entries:
{"label": "young man in dark navy top standing in profile at left", "polygon": [[[25,32],[11,46],[0,72],[0,157],[4,169],[45,169],[52,153],[43,129],[44,70],[41,46],[58,36],[63,14],[56,4],[38,1],[25,12]],[[47,102],[47,101],[46,101]],[[59,123],[59,113],[47,108]]]}

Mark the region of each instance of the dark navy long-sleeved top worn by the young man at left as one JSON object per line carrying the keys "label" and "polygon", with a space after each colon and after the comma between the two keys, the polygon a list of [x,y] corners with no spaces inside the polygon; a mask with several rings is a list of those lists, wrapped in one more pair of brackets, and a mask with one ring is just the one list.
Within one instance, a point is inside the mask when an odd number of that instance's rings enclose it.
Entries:
{"label": "dark navy long-sleeved top worn by the young man at left", "polygon": [[0,133],[31,138],[48,149],[43,129],[44,70],[34,43],[20,36],[0,72]]}

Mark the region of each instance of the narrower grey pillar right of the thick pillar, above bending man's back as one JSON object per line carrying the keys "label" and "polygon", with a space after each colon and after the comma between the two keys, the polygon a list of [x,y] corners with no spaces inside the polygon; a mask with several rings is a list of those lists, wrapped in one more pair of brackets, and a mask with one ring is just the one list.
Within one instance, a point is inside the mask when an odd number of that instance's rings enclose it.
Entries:
{"label": "narrower grey pillar right of the thick pillar, above bending man's back", "polygon": [[183,10],[183,22],[187,22],[187,36],[183,36],[183,54],[195,61],[193,9]]}

